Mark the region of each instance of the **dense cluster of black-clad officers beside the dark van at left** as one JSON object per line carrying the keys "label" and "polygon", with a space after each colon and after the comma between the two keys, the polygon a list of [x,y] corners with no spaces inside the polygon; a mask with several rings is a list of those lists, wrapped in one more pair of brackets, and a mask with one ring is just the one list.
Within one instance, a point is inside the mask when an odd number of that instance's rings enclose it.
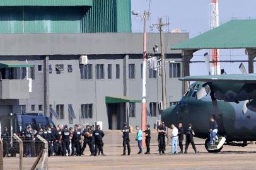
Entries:
{"label": "dense cluster of black-clad officers beside the dark van at left", "polygon": [[[38,127],[32,130],[28,125],[20,134],[23,140],[23,149],[25,157],[39,156],[44,149],[44,143],[37,138],[40,135],[48,142],[49,156],[81,156],[86,149],[90,148],[90,156],[97,156],[103,153],[103,137],[104,132],[97,125],[96,129],[93,126],[86,125],[82,131],[81,125],[74,125],[68,128],[67,125],[58,125],[56,128],[52,124],[49,127]],[[11,154],[10,134],[8,128],[5,127],[1,133],[3,139],[3,156],[8,157]],[[15,143],[16,144],[16,143]],[[11,154],[12,156],[12,154]]]}

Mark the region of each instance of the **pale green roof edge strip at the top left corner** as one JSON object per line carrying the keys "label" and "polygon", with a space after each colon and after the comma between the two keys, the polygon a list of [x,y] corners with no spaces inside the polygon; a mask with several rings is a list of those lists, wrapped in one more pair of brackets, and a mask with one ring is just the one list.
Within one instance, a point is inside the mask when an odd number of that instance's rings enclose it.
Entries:
{"label": "pale green roof edge strip at the top left corner", "polygon": [[93,0],[1,0],[0,6],[93,6]]}

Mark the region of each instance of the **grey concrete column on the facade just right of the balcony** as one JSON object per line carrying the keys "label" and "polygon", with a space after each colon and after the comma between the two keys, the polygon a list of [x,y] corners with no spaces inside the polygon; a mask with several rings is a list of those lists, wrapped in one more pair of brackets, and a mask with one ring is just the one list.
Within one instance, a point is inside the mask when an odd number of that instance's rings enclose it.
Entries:
{"label": "grey concrete column on the facade just right of the balcony", "polygon": [[44,57],[44,113],[50,116],[49,103],[49,56]]}

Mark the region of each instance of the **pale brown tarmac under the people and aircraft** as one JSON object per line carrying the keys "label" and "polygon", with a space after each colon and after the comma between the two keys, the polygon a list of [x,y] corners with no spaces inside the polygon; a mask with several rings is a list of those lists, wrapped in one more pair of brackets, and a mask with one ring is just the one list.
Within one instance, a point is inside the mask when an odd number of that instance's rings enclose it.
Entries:
{"label": "pale brown tarmac under the people and aircraft", "polygon": [[[195,139],[199,154],[194,154],[190,145],[188,154],[170,155],[171,147],[168,145],[166,154],[160,155],[158,154],[157,133],[153,129],[151,130],[151,154],[137,155],[138,148],[135,135],[136,132],[130,135],[130,156],[121,156],[123,150],[122,132],[107,130],[103,139],[105,143],[103,149],[107,156],[90,156],[89,148],[86,147],[84,156],[49,157],[49,169],[256,169],[256,145],[248,145],[247,147],[224,145],[223,150],[218,154],[209,154],[204,147],[204,140]],[[143,148],[143,151],[146,151],[146,147]],[[4,158],[4,169],[16,169],[13,163],[18,163],[18,157],[16,159]],[[35,158],[23,159],[26,167],[31,166],[34,161]]]}

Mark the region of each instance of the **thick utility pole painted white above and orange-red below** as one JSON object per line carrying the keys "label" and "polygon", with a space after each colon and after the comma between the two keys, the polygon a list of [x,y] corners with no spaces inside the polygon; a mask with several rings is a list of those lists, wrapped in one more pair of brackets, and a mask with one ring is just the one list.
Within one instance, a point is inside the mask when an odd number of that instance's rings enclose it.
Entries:
{"label": "thick utility pole painted white above and orange-red below", "polygon": [[[147,123],[147,112],[146,112],[146,61],[147,61],[147,20],[149,16],[148,11],[144,11],[143,15],[139,15],[139,13],[132,11],[132,14],[135,16],[141,16],[143,18],[143,95],[142,95],[142,110],[141,110],[141,130],[144,132],[146,130],[146,123]],[[145,136],[143,135],[143,147],[146,146],[145,143]]]}

